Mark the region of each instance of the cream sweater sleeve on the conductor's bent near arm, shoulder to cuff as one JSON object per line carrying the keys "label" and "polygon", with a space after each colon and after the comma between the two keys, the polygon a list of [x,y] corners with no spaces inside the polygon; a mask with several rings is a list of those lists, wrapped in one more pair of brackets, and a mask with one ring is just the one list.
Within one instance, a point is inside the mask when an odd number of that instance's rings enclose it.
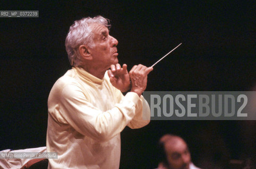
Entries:
{"label": "cream sweater sleeve on the conductor's bent near arm, shoulder to cuff", "polygon": [[136,93],[127,93],[121,102],[103,112],[93,106],[75,85],[66,85],[60,95],[54,97],[59,100],[59,109],[55,110],[55,114],[63,117],[77,132],[99,142],[105,142],[122,132],[136,114],[136,105],[140,101]]}

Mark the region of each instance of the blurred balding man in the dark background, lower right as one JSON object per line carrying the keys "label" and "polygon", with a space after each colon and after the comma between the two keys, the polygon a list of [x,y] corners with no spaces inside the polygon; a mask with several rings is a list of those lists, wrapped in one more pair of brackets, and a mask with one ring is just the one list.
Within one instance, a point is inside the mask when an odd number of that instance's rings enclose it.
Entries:
{"label": "blurred balding man in the dark background, lower right", "polygon": [[163,161],[158,169],[200,169],[191,162],[186,142],[178,136],[166,134],[160,138]]}

